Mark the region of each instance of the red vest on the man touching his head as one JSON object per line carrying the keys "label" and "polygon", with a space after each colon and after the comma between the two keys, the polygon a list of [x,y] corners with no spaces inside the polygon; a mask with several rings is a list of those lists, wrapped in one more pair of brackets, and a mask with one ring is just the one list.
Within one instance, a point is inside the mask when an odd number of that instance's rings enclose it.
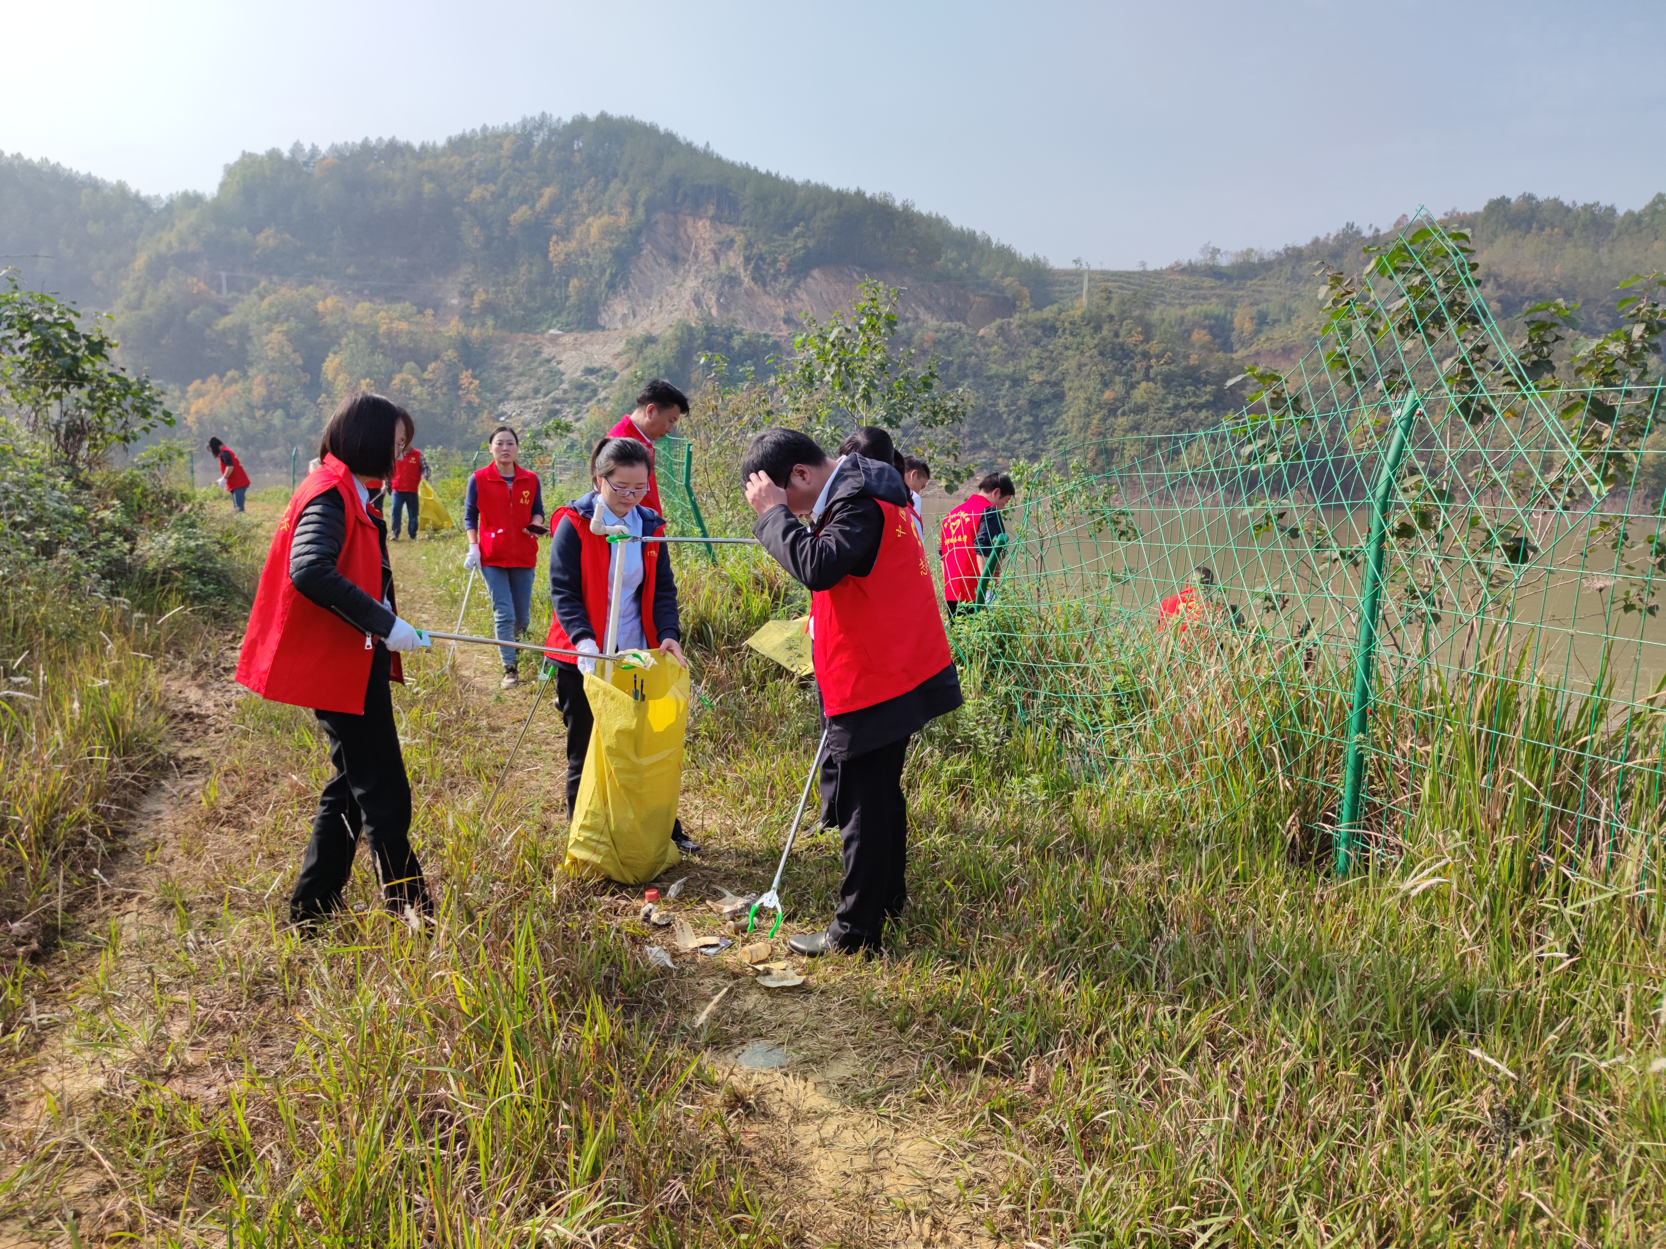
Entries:
{"label": "red vest on the man touching his head", "polygon": [[906,694],[950,664],[931,570],[908,510],[875,500],[885,533],[873,571],[810,596],[816,684],[830,716]]}

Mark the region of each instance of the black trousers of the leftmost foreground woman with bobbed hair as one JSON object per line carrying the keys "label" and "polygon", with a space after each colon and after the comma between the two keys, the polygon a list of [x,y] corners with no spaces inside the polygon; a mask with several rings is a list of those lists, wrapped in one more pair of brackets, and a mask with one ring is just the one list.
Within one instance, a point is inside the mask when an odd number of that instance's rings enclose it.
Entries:
{"label": "black trousers of the leftmost foreground woman with bobbed hair", "polygon": [[312,841],[302,858],[302,874],[290,896],[290,921],[320,919],[342,906],[353,874],[358,834],[375,854],[382,896],[393,909],[407,906],[431,914],[433,903],[412,853],[412,786],[400,754],[388,689],[388,653],[377,646],[365,689],[365,714],[315,711],[330,741],[335,776],[318,794]]}

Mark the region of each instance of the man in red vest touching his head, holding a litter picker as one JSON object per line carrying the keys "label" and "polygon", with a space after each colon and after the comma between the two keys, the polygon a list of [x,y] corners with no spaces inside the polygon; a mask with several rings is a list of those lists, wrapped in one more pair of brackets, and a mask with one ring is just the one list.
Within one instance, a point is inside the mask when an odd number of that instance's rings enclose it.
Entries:
{"label": "man in red vest touching his head, holding a litter picker", "polygon": [[838,761],[838,909],[825,933],[788,946],[810,958],[873,953],[908,901],[908,739],[961,704],[931,571],[888,463],[830,460],[808,435],[768,430],[746,446],[741,480],[758,513],[753,535],[810,590],[816,688]]}

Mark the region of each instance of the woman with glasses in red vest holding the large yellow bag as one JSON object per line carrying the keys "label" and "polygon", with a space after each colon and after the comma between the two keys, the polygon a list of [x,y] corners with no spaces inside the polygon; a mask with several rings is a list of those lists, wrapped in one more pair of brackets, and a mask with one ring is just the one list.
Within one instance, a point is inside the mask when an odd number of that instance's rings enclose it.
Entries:
{"label": "woman with glasses in red vest holding the large yellow bag", "polygon": [[[590,455],[595,490],[573,500],[556,513],[550,543],[550,620],[546,644],[565,651],[601,654],[608,628],[608,596],[613,586],[613,561],[625,561],[620,593],[618,649],[660,648],[685,663],[678,644],[681,628],[676,616],[676,581],[671,578],[671,548],[666,543],[610,543],[591,521],[601,510],[601,523],[625,526],[638,538],[653,538],[665,528],[665,518],[641,503],[651,478],[650,451],[633,438],[603,438]],[[555,659],[555,701],[566,723],[566,813],[573,814],[578,781],[585,774],[585,751],[590,749],[590,699],[585,698],[585,673],[593,673],[590,658],[573,663]],[[693,849],[683,836],[681,823],[671,829],[678,849]]]}

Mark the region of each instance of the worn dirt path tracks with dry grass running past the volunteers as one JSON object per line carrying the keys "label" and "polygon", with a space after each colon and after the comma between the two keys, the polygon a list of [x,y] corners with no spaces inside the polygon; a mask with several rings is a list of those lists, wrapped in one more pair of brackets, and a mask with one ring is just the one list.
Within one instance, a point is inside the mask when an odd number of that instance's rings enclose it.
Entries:
{"label": "worn dirt path tracks with dry grass running past the volunteers", "polygon": [[[441,573],[456,555],[455,543],[395,548],[407,616],[455,621]],[[475,600],[470,626],[490,631],[478,583]],[[223,1227],[213,1209],[197,1207],[190,1181],[185,1191],[157,1189],[97,1141],[127,1134],[130,1156],[142,1152],[128,1137],[147,1116],[188,1122],[242,1086],[282,1076],[293,1057],[293,984],[305,981],[307,964],[283,914],[323,761],[302,736],[305,713],[248,699],[232,681],[237,643],[227,633],[218,649],[167,669],[168,771],[133,811],[125,843],[102,869],[105,883],[82,901],[73,939],[50,964],[53,989],[37,1001],[33,1052],[5,1082],[0,1196],[12,1201],[0,1206],[0,1247],[123,1234],[223,1244]],[[456,668],[470,723],[506,749],[535,686],[498,689],[490,648],[460,646]],[[560,716],[545,698],[510,794],[523,819],[565,819],[560,759]],[[725,846],[733,831],[721,813],[705,813],[701,826],[713,841],[671,873],[686,878],[675,909],[698,931],[730,934],[703,899],[741,888],[740,859]],[[666,929],[636,918],[638,891],[595,893],[601,923],[625,941],[671,944]],[[372,904],[365,856],[350,896]],[[766,991],[738,946],[715,958],[678,954],[660,1001],[703,1046],[760,1191],[813,1244],[996,1244],[985,1227],[1001,1222],[1000,1209],[985,1194],[998,1176],[950,1107],[920,1096],[918,1047],[863,1004],[863,964],[800,963],[805,986]],[[775,943],[775,958],[783,956],[785,933]],[[760,1047],[773,1052],[761,1069],[751,1057]]]}

